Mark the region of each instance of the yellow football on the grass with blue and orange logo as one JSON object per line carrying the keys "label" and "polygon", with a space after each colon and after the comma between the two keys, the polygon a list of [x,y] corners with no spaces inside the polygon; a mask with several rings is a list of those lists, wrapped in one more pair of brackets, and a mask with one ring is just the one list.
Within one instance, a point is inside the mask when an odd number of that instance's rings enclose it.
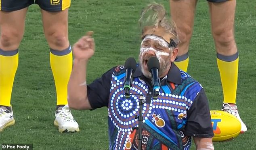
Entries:
{"label": "yellow football on the grass with blue and orange logo", "polygon": [[240,121],[233,115],[221,110],[210,110],[214,132],[213,142],[231,140],[241,131]]}

